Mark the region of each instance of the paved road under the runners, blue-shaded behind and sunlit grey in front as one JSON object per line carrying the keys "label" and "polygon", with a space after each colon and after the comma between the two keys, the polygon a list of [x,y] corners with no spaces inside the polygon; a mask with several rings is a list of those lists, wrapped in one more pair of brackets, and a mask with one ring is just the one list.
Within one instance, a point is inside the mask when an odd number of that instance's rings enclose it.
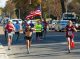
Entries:
{"label": "paved road under the runners, blue-shaded behind and sunlit grey in front", "polygon": [[19,41],[13,39],[12,49],[7,50],[4,34],[0,35],[0,42],[10,59],[79,59],[80,58],[80,33],[75,33],[75,49],[71,53],[67,51],[67,42],[64,32],[48,32],[45,39],[37,42],[33,35],[30,54],[27,54],[25,40],[21,34]]}

